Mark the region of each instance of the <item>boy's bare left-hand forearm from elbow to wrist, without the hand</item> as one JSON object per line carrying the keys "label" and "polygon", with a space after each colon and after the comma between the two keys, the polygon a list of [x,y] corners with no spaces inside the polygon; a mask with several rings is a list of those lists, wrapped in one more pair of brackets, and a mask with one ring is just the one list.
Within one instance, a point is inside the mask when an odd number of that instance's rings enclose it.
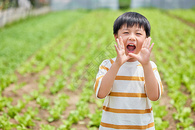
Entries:
{"label": "boy's bare left-hand forearm from elbow to wrist, without the hand", "polygon": [[104,75],[97,95],[99,98],[104,98],[108,95],[113,86],[119,68],[120,65],[114,62],[108,72]]}

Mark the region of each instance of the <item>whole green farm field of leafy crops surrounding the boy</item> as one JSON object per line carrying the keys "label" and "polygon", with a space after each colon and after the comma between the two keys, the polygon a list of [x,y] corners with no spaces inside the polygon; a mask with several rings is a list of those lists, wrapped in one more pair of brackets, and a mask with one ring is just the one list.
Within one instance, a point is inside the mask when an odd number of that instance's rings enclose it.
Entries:
{"label": "whole green farm field of leafy crops surrounding the boy", "polygon": [[[174,10],[128,11],[152,27],[151,60],[164,85],[152,102],[156,129],[194,130],[195,28],[172,17]],[[60,11],[0,29],[0,129],[96,130],[103,100],[93,85],[100,63],[116,56],[112,26],[122,13]]]}

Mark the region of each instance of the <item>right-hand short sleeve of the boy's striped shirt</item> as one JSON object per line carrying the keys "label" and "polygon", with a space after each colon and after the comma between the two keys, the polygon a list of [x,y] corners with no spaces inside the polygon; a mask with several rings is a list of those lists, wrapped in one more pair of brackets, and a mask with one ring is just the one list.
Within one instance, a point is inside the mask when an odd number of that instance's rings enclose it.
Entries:
{"label": "right-hand short sleeve of the boy's striped shirt", "polygon": [[160,99],[160,97],[163,93],[163,85],[162,85],[162,82],[161,82],[160,74],[158,72],[156,64],[153,61],[150,61],[150,63],[152,65],[154,75],[155,75],[155,77],[157,79],[157,82],[158,82],[158,87],[159,87],[159,98],[158,99]]}

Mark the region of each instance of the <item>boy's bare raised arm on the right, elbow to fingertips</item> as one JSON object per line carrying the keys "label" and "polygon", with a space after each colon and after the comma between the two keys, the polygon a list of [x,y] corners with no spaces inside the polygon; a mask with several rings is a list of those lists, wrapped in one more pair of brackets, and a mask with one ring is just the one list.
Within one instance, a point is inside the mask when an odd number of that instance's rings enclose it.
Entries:
{"label": "boy's bare raised arm on the right, elbow to fingertips", "polygon": [[150,54],[154,43],[150,46],[151,38],[146,38],[142,45],[139,54],[129,53],[130,56],[136,58],[143,66],[145,78],[145,90],[150,100],[156,101],[159,98],[159,87],[156,77],[154,75],[152,66],[150,64]]}

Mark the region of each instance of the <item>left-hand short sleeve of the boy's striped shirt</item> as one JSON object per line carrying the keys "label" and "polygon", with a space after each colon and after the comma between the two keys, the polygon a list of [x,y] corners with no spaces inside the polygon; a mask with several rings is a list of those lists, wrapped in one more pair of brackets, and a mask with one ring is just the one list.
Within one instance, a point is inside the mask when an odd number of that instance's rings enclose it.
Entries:
{"label": "left-hand short sleeve of the boy's striped shirt", "polygon": [[96,82],[94,84],[94,91],[95,91],[95,95],[98,98],[98,92],[99,92],[99,88],[102,82],[102,78],[103,76],[108,72],[108,70],[110,69],[111,65],[113,63],[113,60],[104,60],[101,65],[99,66],[99,71],[96,75]]}

